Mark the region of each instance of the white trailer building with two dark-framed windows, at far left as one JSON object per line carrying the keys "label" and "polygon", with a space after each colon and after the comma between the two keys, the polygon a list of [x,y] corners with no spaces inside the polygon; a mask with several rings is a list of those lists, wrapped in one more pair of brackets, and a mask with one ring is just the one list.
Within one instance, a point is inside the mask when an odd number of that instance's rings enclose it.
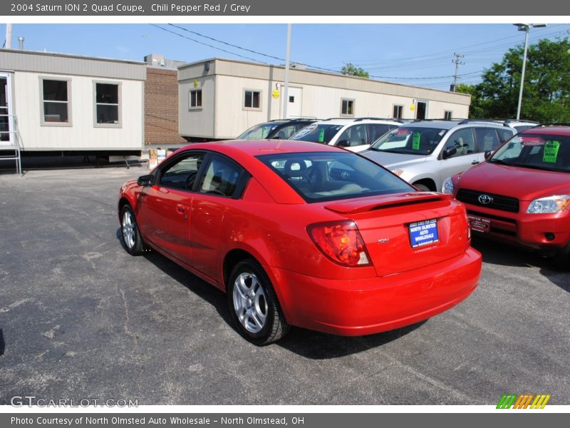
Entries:
{"label": "white trailer building with two dark-framed windows, at far left", "polygon": [[146,64],[0,49],[0,151],[140,156]]}

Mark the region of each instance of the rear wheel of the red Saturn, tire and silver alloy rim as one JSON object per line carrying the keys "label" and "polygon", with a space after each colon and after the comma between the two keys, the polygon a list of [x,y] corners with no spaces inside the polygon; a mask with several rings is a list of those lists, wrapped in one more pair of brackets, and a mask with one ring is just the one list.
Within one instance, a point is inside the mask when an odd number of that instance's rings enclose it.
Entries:
{"label": "rear wheel of the red Saturn, tire and silver alloy rim", "polygon": [[269,345],[289,331],[271,281],[256,260],[242,260],[232,269],[227,300],[232,322],[249,342]]}

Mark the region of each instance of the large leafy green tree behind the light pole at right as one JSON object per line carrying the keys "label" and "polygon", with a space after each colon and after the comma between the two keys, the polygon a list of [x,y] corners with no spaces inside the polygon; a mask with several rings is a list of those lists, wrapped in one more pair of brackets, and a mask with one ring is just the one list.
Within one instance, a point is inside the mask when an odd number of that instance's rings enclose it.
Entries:
{"label": "large leafy green tree behind the light pole at right", "polygon": [[[509,49],[501,63],[484,71],[472,93],[472,117],[517,116],[523,52],[524,46]],[[543,123],[570,121],[569,70],[570,41],[541,40],[529,46],[521,118]]]}

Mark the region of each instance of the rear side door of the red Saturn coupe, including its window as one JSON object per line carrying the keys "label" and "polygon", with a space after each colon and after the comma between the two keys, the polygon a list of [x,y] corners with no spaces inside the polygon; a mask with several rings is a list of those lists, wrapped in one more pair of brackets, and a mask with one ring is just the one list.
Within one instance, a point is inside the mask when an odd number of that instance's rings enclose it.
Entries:
{"label": "rear side door of the red Saturn coupe, including its window", "polygon": [[217,278],[219,235],[225,215],[239,203],[248,176],[232,159],[212,154],[192,200],[192,267],[213,280]]}

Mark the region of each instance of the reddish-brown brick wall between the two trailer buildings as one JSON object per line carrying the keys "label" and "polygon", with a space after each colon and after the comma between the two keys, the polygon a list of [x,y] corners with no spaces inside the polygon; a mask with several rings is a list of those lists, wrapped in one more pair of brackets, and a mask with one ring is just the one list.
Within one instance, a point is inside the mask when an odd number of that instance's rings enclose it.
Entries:
{"label": "reddish-brown brick wall between the two trailer buildings", "polygon": [[147,67],[145,144],[185,143],[178,133],[178,73]]}

